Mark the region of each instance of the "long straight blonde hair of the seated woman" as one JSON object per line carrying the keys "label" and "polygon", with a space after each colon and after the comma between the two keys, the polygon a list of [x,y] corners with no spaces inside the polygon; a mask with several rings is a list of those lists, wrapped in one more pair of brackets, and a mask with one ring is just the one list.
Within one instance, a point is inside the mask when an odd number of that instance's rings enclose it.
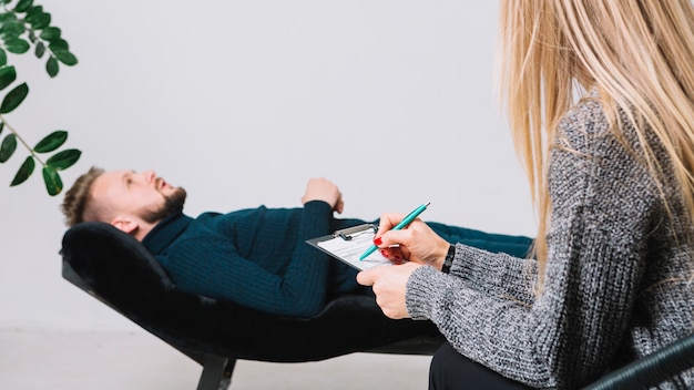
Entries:
{"label": "long straight blonde hair of the seated woman", "polygon": [[[661,181],[649,129],[670,155],[694,215],[694,9],[690,0],[503,0],[500,88],[538,212],[540,281],[550,218],[547,160],[559,120],[598,89],[612,131],[629,109],[645,163]],[[542,283],[540,283],[541,285]]]}

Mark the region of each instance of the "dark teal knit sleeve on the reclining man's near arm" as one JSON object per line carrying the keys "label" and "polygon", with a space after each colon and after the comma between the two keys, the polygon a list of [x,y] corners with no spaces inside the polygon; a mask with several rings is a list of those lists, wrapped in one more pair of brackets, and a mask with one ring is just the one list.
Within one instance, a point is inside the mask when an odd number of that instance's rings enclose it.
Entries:
{"label": "dark teal knit sleeve on the reclining man's near arm", "polygon": [[[325,306],[329,259],[306,240],[329,233],[331,214],[325,202],[304,205],[300,223],[294,227],[298,230],[294,252],[280,254],[290,256],[283,273],[271,273],[245,258],[226,237],[205,234],[190,237],[177,244],[172,256],[178,258],[170,259],[173,271],[181,274],[176,284],[188,291],[271,314],[314,316]],[[276,235],[282,237],[283,232]],[[194,264],[192,259],[196,259]]]}

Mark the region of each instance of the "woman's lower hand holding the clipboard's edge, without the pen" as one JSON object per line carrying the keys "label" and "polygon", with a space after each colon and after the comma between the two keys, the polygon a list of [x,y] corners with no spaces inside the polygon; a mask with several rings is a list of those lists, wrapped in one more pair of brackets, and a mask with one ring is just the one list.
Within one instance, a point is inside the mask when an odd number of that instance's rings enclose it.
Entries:
{"label": "woman's lower hand holding the clipboard's edge, without the pen", "polygon": [[415,263],[374,267],[357,274],[357,281],[364,286],[372,286],[376,304],[387,317],[409,318],[405,302],[405,288],[410,275],[418,267],[421,265]]}

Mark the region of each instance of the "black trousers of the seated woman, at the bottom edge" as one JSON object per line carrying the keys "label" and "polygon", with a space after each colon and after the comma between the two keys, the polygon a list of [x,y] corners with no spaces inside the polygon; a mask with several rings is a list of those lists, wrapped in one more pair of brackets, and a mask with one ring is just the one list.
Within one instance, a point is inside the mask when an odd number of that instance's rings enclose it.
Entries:
{"label": "black trousers of the seated woman, at the bottom edge", "polygon": [[446,342],[431,359],[429,390],[531,389],[477,363]]}

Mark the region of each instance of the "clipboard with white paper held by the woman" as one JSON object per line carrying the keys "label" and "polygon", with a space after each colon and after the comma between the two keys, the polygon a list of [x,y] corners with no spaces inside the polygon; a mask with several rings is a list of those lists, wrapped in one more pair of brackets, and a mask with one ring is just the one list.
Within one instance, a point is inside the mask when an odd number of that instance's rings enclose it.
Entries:
{"label": "clipboard with white paper held by the woman", "polygon": [[378,232],[378,226],[364,224],[336,230],[327,236],[312,238],[306,240],[306,243],[358,270],[392,265],[392,261],[381,256],[378,250],[364,258],[364,260],[359,260],[359,256],[374,245],[376,232]]}

